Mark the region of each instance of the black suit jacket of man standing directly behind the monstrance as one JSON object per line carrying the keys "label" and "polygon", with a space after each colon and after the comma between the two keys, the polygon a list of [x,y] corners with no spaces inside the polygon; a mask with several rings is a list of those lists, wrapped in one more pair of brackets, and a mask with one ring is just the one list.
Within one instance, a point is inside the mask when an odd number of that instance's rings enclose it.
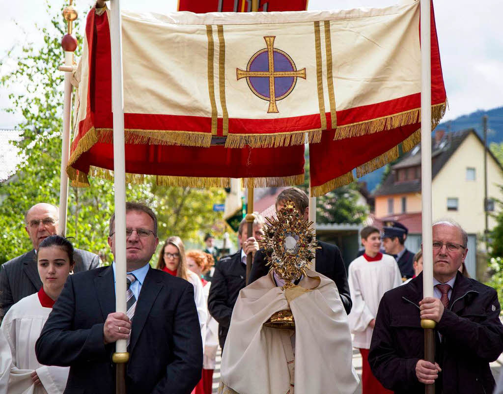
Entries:
{"label": "black suit jacket of man standing directly behind the monstrance", "polygon": [[[325,275],[336,283],[341,301],[344,304],[344,309],[346,313],[349,314],[353,302],[351,301],[348,274],[341,251],[337,246],[321,241],[318,241],[318,246],[320,246],[321,249],[316,249],[316,272]],[[250,271],[250,283],[268,274],[270,267],[266,266],[267,261],[265,257],[266,254],[264,249],[259,250],[255,254],[253,266],[251,266]]]}

